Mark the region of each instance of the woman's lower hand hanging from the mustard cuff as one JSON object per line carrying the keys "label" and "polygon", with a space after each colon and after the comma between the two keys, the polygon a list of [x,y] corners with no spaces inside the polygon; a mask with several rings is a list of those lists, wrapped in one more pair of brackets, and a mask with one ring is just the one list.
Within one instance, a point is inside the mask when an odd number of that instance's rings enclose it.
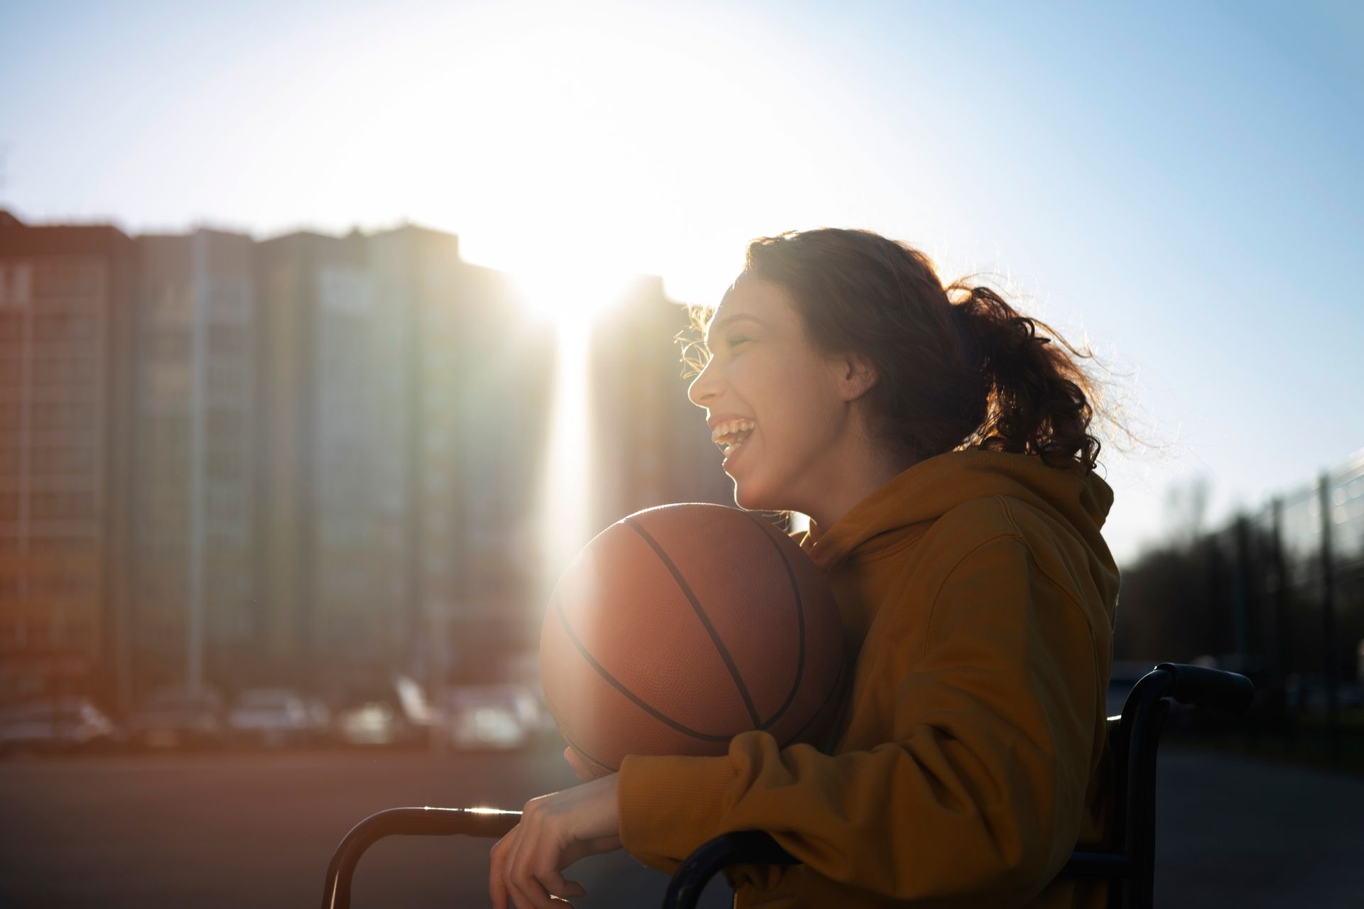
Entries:
{"label": "woman's lower hand hanging from the mustard cuff", "polygon": [[[572,762],[570,762],[572,763]],[[492,909],[555,909],[587,889],[559,874],[578,859],[621,848],[617,774],[525,803],[521,823],[492,846]]]}

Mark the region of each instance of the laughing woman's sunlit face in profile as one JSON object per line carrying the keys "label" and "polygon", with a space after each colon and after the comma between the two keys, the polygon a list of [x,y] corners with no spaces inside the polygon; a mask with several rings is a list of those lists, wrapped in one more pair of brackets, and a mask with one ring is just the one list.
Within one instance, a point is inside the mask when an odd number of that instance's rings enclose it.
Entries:
{"label": "laughing woman's sunlit face in profile", "polygon": [[840,364],[810,345],[790,294],[752,275],[724,294],[705,339],[711,360],[687,397],[707,412],[735,503],[813,514],[850,431]]}

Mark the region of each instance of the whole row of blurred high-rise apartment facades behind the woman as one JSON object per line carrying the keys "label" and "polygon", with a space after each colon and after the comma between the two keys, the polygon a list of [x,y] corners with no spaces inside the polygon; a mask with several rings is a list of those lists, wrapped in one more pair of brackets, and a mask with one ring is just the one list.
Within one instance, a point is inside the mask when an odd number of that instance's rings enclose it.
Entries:
{"label": "whole row of blurred high-rise apartment facades behind the woman", "polygon": [[[411,225],[132,240],[4,215],[0,699],[524,675],[547,540],[732,503],[685,324],[640,279],[569,350]],[[584,406],[555,413],[570,354]],[[567,455],[573,515],[547,487]]]}

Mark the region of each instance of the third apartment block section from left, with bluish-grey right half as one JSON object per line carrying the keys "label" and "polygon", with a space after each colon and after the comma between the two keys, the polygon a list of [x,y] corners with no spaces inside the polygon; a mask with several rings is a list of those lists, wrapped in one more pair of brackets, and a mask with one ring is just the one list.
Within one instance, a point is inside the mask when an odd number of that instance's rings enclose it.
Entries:
{"label": "third apartment block section from left, with bluish-grey right half", "polygon": [[394,621],[405,517],[390,488],[406,454],[383,416],[402,333],[385,330],[363,234],[261,243],[255,281],[262,664],[326,687],[393,665],[408,634]]}

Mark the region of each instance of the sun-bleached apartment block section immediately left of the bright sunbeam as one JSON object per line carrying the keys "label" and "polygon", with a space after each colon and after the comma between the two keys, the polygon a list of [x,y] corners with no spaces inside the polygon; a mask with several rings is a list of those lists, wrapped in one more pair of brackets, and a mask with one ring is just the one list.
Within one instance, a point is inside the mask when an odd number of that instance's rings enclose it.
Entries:
{"label": "sun-bleached apartment block section immediately left of the bright sunbeam", "polygon": [[491,677],[537,635],[535,602],[554,337],[454,236],[370,237],[381,296],[411,312],[408,576],[413,669]]}

